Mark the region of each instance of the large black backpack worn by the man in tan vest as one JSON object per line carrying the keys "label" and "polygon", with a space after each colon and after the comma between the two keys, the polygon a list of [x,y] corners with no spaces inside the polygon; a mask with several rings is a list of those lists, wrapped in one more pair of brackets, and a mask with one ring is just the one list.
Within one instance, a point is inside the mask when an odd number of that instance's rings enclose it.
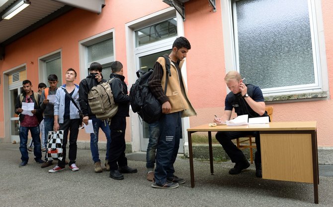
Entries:
{"label": "large black backpack worn by the man in tan vest", "polygon": [[[166,93],[168,76],[171,76],[170,60],[168,54],[163,55],[163,57],[166,60],[166,71],[168,74],[164,90]],[[138,79],[132,85],[129,95],[133,112],[137,112],[148,124],[158,121],[162,116],[162,104],[155,98],[148,85],[152,73],[152,69],[148,72],[138,70],[136,72]]]}

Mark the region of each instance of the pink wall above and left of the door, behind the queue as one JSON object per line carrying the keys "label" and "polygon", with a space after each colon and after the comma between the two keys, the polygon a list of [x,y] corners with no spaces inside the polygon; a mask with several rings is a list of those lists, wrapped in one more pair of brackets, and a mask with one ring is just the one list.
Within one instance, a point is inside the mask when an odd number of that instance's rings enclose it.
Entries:
{"label": "pink wall above and left of the door, behind the queue", "polygon": [[[38,57],[61,49],[63,74],[68,68],[74,68],[78,73],[76,83],[79,84],[79,41],[115,28],[115,55],[123,63],[124,75],[127,76],[125,23],[167,8],[168,5],[162,0],[105,0],[105,4],[99,15],[74,9],[7,46],[5,59],[0,60],[1,74],[2,71],[26,63],[27,79],[31,80],[33,86],[37,86]],[[2,87],[3,84],[0,87],[1,96]],[[38,90],[36,87],[33,89]],[[3,108],[3,102],[0,102],[0,108]],[[5,136],[3,118],[3,111],[0,110],[0,137]],[[129,136],[126,138],[130,139]],[[89,137],[80,132],[79,139],[88,140]]]}

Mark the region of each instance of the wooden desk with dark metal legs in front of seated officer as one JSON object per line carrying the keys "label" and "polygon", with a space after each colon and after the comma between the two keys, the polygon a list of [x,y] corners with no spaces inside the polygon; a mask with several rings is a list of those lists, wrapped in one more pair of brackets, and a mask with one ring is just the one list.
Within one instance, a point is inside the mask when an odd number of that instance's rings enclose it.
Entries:
{"label": "wooden desk with dark metal legs in front of seated officer", "polygon": [[262,178],[313,183],[315,203],[318,204],[316,124],[316,121],[271,122],[243,126],[218,125],[216,127],[204,124],[187,129],[191,187],[194,188],[192,133],[208,132],[210,171],[213,174],[212,132],[259,131]]}

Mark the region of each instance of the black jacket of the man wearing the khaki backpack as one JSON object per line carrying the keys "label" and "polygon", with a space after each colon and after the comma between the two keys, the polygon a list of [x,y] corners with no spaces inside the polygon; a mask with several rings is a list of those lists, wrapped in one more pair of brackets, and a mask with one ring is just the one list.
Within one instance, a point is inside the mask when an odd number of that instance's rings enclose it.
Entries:
{"label": "black jacket of the man wearing the khaki backpack", "polygon": [[[105,83],[106,80],[102,79],[99,83]],[[95,79],[95,75],[90,73],[84,78],[79,85],[79,103],[83,116],[95,117],[95,114],[91,113],[90,106],[88,104],[88,93],[90,89],[99,84]]]}

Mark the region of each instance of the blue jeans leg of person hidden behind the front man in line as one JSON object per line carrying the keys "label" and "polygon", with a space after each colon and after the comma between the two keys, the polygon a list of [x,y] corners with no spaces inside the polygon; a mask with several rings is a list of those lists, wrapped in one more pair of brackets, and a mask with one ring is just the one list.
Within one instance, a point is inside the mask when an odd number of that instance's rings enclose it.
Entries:
{"label": "blue jeans leg of person hidden behind the front man in line", "polygon": [[159,136],[160,136],[159,122],[156,121],[152,124],[149,124],[148,131],[149,131],[149,143],[147,147],[146,167],[148,171],[153,171],[155,166],[156,149],[159,143]]}

